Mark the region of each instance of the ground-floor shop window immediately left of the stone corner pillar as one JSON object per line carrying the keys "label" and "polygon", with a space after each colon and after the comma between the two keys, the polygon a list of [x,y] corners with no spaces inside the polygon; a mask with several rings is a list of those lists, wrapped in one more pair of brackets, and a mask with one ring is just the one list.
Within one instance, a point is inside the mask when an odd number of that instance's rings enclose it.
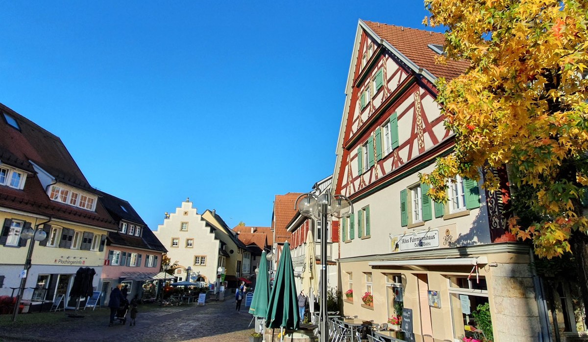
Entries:
{"label": "ground-floor shop window immediately left of the stone corner pillar", "polygon": [[474,316],[477,312],[490,311],[486,279],[449,277],[449,297],[454,337],[481,339],[482,327],[476,326]]}

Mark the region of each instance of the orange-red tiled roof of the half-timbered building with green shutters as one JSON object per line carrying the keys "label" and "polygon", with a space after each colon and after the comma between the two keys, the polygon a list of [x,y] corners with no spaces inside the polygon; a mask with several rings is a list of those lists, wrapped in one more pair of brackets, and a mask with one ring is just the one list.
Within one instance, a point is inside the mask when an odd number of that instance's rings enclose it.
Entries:
{"label": "orange-red tiled roof of the half-timbered building with green shutters", "polygon": [[445,45],[443,33],[405,28],[402,26],[381,24],[379,22],[363,21],[380,38],[385,39],[400,53],[420,68],[426,69],[437,78],[447,80],[459,76],[470,65],[467,61],[448,60],[446,65],[436,64],[436,52],[429,48],[429,44]]}

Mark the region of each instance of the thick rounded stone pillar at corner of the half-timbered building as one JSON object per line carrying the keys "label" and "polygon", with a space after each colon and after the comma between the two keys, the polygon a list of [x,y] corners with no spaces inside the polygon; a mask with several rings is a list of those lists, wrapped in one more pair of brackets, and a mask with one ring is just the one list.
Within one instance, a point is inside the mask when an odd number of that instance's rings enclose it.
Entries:
{"label": "thick rounded stone pillar at corner of the half-timbered building", "polygon": [[528,263],[499,263],[492,267],[490,310],[494,342],[536,341],[539,310]]}

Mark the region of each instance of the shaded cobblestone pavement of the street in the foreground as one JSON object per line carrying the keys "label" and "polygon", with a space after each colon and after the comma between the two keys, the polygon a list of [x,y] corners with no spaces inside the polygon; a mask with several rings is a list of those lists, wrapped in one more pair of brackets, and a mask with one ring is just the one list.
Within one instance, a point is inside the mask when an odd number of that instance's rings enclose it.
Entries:
{"label": "shaded cobblestone pavement of the street in the foreground", "polygon": [[212,301],[206,306],[155,307],[146,311],[141,311],[139,306],[136,326],[129,326],[127,320],[125,325],[115,323],[108,327],[109,312],[100,309],[83,318],[65,318],[64,315],[63,322],[49,327],[0,326],[0,341],[245,342],[253,331],[253,324],[248,327],[252,318],[248,309],[242,307],[240,313],[236,313],[234,300]]}

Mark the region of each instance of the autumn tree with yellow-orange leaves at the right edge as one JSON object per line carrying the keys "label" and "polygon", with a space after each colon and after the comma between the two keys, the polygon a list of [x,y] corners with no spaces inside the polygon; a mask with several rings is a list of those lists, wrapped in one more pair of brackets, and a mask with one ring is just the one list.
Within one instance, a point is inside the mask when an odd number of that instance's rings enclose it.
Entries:
{"label": "autumn tree with yellow-orange leaves at the right edge", "polygon": [[[438,102],[455,133],[452,155],[422,175],[434,200],[462,175],[496,190],[489,170],[507,165],[513,202],[534,215],[510,220],[540,257],[572,252],[588,310],[588,2],[585,0],[425,0],[425,23],[443,26],[446,56],[470,68],[439,79]],[[517,191],[519,196],[517,197]],[[517,213],[515,213],[516,215]],[[586,315],[588,316],[588,314]]]}

